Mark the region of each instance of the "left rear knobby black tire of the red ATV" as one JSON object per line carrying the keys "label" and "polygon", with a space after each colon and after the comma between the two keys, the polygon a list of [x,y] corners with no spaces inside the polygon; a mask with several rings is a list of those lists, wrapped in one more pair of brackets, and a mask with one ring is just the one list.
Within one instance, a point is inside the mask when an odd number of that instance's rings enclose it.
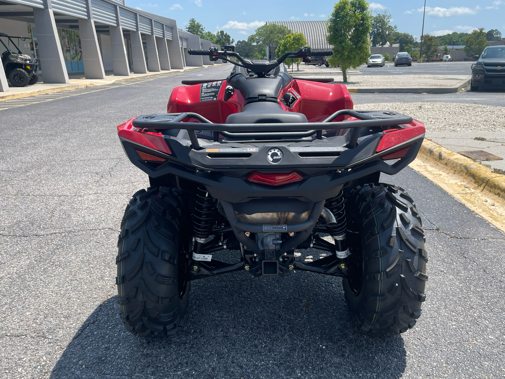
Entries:
{"label": "left rear knobby black tire of the red ATV", "polygon": [[120,315],[132,334],[168,336],[184,322],[191,235],[183,208],[179,193],[167,187],[141,189],[126,207],[116,283]]}

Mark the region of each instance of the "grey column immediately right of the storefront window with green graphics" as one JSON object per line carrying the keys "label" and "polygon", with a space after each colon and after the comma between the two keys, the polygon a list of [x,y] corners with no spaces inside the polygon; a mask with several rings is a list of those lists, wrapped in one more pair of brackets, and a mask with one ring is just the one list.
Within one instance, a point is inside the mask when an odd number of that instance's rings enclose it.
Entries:
{"label": "grey column immediately right of the storefront window with green graphics", "polygon": [[84,63],[84,76],[86,79],[105,79],[104,64],[102,62],[102,55],[100,54],[100,46],[98,45],[94,21],[83,18],[79,18],[78,20],[79,34],[81,36],[82,61]]}

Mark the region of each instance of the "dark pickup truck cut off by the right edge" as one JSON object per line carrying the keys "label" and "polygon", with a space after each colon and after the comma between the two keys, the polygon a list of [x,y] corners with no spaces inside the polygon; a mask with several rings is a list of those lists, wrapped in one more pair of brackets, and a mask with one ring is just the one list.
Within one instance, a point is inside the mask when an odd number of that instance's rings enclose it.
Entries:
{"label": "dark pickup truck cut off by the right edge", "polygon": [[478,60],[472,65],[470,90],[505,89],[505,46],[487,46],[480,57],[474,58]]}

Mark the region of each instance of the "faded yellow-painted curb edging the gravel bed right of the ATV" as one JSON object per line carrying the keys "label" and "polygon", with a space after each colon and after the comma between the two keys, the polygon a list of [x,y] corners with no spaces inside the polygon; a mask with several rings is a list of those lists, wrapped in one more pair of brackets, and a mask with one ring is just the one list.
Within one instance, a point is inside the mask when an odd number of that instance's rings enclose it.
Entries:
{"label": "faded yellow-painted curb edging the gravel bed right of the ATV", "polygon": [[505,199],[505,175],[495,174],[470,158],[450,151],[429,139],[423,141],[418,157],[465,176],[481,187],[482,191],[486,189],[499,198]]}

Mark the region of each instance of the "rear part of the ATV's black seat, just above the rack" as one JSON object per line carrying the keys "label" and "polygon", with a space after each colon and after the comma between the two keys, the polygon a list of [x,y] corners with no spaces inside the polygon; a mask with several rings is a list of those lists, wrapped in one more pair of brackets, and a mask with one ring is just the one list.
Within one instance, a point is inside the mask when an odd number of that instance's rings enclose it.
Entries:
{"label": "rear part of the ATV's black seat, just above the rack", "polygon": [[283,122],[308,122],[302,113],[287,112],[273,102],[256,102],[245,105],[242,112],[233,113],[226,118],[227,124],[262,124]]}

